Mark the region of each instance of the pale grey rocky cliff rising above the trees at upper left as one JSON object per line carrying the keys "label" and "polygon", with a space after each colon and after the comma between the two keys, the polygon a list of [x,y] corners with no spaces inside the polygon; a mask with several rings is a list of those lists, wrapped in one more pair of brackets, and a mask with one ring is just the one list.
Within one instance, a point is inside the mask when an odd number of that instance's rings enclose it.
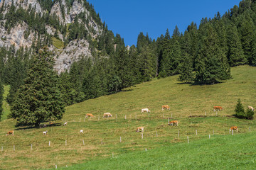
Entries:
{"label": "pale grey rocky cliff rising above the trees at upper left", "polygon": [[[47,43],[50,50],[53,50],[55,54],[55,69],[58,72],[63,72],[66,69],[70,69],[70,65],[79,60],[80,57],[92,57],[91,49],[89,45],[88,37],[97,40],[98,35],[101,35],[102,29],[99,26],[99,22],[92,18],[92,13],[87,6],[85,6],[86,1],[73,1],[72,4],[67,4],[67,1],[60,0],[56,1],[51,8],[43,8],[42,4],[37,0],[4,0],[0,3],[1,13],[0,13],[0,47],[11,47],[13,45],[16,50],[20,47],[31,48],[33,45],[37,45],[38,41],[43,44],[43,41],[48,38]],[[38,18],[40,17],[53,17],[58,25],[55,23],[48,24],[47,22],[43,25],[45,27],[45,33],[40,33],[39,30],[33,29],[33,26],[29,26],[30,23],[25,19],[21,19],[11,26],[11,28],[6,28],[9,11],[11,6],[15,6],[15,11],[18,8],[23,8],[25,11],[30,11],[31,9],[35,12],[33,15]],[[31,11],[32,11],[31,10]],[[31,13],[31,12],[30,12]],[[87,33],[87,38],[78,38],[68,40],[69,30],[68,28],[73,25],[75,18],[78,18],[78,23],[80,27],[84,28]],[[65,33],[64,29],[67,31]],[[62,47],[55,45],[52,40],[56,37],[58,43],[62,43]]]}

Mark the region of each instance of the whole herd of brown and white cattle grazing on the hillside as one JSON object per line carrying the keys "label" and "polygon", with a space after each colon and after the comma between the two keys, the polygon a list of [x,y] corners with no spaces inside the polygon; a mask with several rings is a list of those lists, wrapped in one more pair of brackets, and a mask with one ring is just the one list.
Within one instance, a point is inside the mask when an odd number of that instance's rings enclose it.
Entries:
{"label": "whole herd of brown and white cattle grazing on the hillside", "polygon": [[[164,105],[164,106],[161,106],[162,108],[162,111],[164,111],[164,109],[166,110],[170,110],[170,107],[168,105]],[[251,109],[252,111],[254,111],[254,108],[252,108],[252,106],[248,106],[248,109]],[[221,106],[213,106],[213,111],[222,111],[223,110],[223,107]],[[142,108],[142,111],[141,113],[150,113],[150,110],[149,108]],[[93,118],[94,116],[92,115],[92,113],[87,113],[85,115],[85,118]],[[104,113],[103,114],[103,117],[102,118],[109,118],[109,117],[112,117],[112,114],[111,113]],[[50,123],[52,124],[52,123]],[[68,123],[64,123],[63,125],[68,125]],[[178,126],[178,120],[171,120],[169,121],[168,125],[176,125]],[[46,124],[43,125],[43,128],[46,128]],[[237,126],[232,126],[230,128],[230,131],[231,130],[236,130],[238,132],[238,127]],[[47,130],[43,132],[43,135],[47,135]],[[136,132],[144,132],[144,127],[138,127]],[[80,133],[83,133],[83,130],[80,130]],[[6,135],[14,135],[14,130],[10,130],[9,132],[6,133]]]}

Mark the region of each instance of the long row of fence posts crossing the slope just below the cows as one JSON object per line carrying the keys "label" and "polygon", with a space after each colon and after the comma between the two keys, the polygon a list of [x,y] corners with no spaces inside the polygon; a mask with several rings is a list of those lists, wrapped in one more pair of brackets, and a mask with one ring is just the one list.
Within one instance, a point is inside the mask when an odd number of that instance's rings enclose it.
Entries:
{"label": "long row of fence posts crossing the slope just below the cows", "polygon": [[[247,132],[251,132],[252,129],[251,127],[247,128]],[[149,135],[148,133],[141,133],[141,135],[137,135],[137,137],[134,137],[131,139],[131,137],[126,137],[125,135],[120,136],[120,137],[97,137],[95,139],[89,139],[86,140],[85,137],[81,137],[79,140],[77,140],[77,142],[75,142],[76,145],[73,145],[73,147],[86,147],[87,145],[117,145],[118,143],[126,143],[126,142],[139,142],[141,145],[146,145],[146,138],[149,138],[150,140],[154,140],[157,139],[157,141],[155,142],[166,142],[166,135],[164,135],[163,137],[159,137],[159,132],[155,131],[154,132],[154,136]],[[228,132],[228,135],[234,135],[235,131],[230,131]],[[187,142],[189,143],[189,141],[191,140],[195,140],[195,139],[202,139],[203,137],[207,137],[210,139],[210,137],[213,137],[214,135],[223,135],[223,133],[216,133],[214,130],[212,130],[212,133],[210,134],[202,134],[202,135],[198,135],[198,130],[195,130],[193,135],[181,135],[181,130],[177,130],[176,132],[176,136],[170,136],[173,137],[171,140],[179,140],[180,142]],[[74,141],[74,140],[71,140]],[[24,148],[26,148],[26,150],[31,149],[31,151],[35,148],[45,148],[45,147],[68,147],[69,144],[69,140],[68,139],[62,139],[62,142],[55,142],[54,139],[49,139],[49,141],[45,141],[45,142],[37,142],[37,143],[31,143],[31,144],[27,144],[27,145],[19,145],[18,143],[14,144],[14,145],[3,145],[0,144],[1,146],[1,153],[3,153],[6,150],[13,150],[14,152],[18,152],[19,149],[24,150]],[[4,147],[5,146],[5,147]],[[7,149],[5,149],[7,148]],[[76,149],[76,148],[74,148]]]}

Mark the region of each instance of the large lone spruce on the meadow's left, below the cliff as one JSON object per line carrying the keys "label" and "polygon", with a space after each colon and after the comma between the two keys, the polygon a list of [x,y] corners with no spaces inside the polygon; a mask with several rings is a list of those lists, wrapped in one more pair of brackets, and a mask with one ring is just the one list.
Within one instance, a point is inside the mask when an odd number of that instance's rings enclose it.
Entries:
{"label": "large lone spruce on the meadow's left, below the cliff", "polygon": [[60,100],[58,75],[53,71],[53,57],[46,48],[34,56],[24,84],[11,106],[17,125],[38,126],[48,120],[60,120],[65,112]]}

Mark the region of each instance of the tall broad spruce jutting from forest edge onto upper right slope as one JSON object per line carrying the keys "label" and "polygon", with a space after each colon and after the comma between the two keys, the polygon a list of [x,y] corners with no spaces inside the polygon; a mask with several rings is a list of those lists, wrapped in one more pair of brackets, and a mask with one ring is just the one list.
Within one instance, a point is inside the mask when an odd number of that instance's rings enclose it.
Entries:
{"label": "tall broad spruce jutting from forest edge onto upper right slope", "polygon": [[200,50],[196,58],[196,84],[215,84],[230,79],[228,59],[218,45],[210,23],[201,27]]}

